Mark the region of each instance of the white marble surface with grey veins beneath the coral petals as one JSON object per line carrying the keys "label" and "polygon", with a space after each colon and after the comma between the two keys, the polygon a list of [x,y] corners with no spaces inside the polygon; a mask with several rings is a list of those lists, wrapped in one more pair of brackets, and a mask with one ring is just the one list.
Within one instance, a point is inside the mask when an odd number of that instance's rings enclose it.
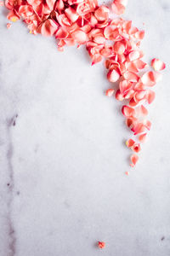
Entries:
{"label": "white marble surface with grey veins beneath the coral petals", "polygon": [[[170,1],[129,0],[145,59],[167,63],[129,177],[120,104],[84,49],[56,49],[0,9],[0,255],[170,255]],[[16,125],[15,115],[18,114]],[[96,241],[105,241],[102,252]]]}

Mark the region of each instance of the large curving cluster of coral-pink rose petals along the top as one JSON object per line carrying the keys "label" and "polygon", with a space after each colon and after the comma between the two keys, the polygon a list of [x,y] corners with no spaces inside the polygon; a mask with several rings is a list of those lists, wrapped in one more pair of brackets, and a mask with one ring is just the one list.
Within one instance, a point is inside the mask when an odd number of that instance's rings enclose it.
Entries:
{"label": "large curving cluster of coral-pink rose petals along the top", "polygon": [[[111,9],[99,6],[97,0],[5,0],[5,5],[8,20],[22,19],[34,35],[54,36],[59,51],[65,45],[84,44],[92,65],[105,60],[107,79],[112,84],[105,95],[111,97],[116,92],[116,100],[124,101],[122,114],[135,137],[127,141],[127,147],[135,153],[130,165],[135,166],[140,143],[144,143],[151,126],[145,105],[154,101],[152,88],[161,80],[159,71],[166,66],[159,59],[153,59],[151,67],[142,60],[144,30],[133,26],[132,20],[117,16],[124,13],[127,0],[114,0]],[[115,14],[113,19],[111,12]]]}

